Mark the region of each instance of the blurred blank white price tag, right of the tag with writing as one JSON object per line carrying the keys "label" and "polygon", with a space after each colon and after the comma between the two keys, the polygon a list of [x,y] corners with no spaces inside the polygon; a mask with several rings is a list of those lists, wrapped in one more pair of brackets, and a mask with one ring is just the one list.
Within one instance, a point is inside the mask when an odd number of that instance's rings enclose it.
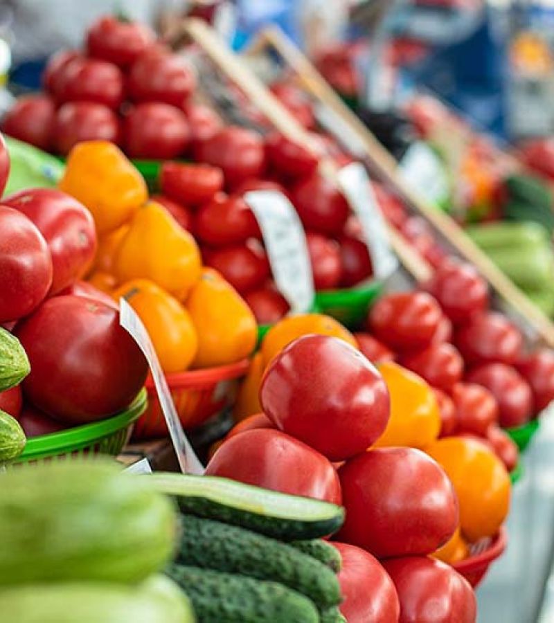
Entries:
{"label": "blurred blank white price tag, right of the tag with writing", "polygon": [[364,165],[352,162],[343,167],[339,171],[339,183],[348,204],[361,222],[373,274],[377,279],[388,278],[397,269],[398,260],[391,249],[385,220]]}

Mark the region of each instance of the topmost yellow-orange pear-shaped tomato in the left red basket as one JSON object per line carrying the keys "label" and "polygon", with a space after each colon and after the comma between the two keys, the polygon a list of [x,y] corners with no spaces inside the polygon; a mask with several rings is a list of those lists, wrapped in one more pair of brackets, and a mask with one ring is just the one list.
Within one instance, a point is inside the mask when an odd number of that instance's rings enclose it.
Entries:
{"label": "topmost yellow-orange pear-shaped tomato in the left red basket", "polygon": [[99,235],[123,225],[148,200],[139,171],[108,141],[75,145],[59,186],[89,208]]}

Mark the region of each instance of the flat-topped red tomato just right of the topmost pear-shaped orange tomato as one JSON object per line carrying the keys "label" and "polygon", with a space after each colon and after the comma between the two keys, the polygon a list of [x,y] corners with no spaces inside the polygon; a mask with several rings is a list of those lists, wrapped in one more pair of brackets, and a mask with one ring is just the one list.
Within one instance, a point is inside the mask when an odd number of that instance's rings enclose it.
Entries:
{"label": "flat-topped red tomato just right of the topmost pear-shaped orange tomato", "polygon": [[159,182],[161,192],[170,199],[186,206],[199,206],[223,189],[223,172],[210,165],[164,162]]}

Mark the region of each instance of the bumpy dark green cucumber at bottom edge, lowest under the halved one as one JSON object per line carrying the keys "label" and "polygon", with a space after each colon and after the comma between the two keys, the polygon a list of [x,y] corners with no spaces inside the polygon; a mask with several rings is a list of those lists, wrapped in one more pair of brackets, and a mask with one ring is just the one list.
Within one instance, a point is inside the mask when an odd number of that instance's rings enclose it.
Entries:
{"label": "bumpy dark green cucumber at bottom edge, lowest under the halved one", "polygon": [[181,565],[167,572],[185,590],[198,623],[319,623],[310,599],[276,582]]}

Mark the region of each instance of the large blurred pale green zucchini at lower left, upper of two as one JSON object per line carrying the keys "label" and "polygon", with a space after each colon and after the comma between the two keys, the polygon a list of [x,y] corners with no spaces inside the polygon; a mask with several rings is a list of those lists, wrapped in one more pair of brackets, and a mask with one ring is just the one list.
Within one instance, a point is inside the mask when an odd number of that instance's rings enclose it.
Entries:
{"label": "large blurred pale green zucchini at lower left, upper of two", "polygon": [[0,534],[0,586],[138,582],[172,557],[177,514],[115,463],[64,460],[1,476]]}

